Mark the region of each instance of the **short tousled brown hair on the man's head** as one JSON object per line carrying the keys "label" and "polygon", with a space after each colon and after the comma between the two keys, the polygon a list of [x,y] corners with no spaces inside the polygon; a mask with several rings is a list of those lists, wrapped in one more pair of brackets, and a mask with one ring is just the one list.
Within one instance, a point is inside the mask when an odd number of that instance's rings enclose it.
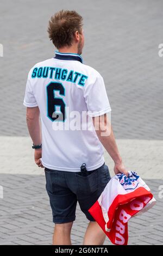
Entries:
{"label": "short tousled brown hair on the man's head", "polygon": [[82,27],[83,17],[76,11],[60,10],[49,20],[49,38],[57,49],[71,46],[76,31],[82,34]]}

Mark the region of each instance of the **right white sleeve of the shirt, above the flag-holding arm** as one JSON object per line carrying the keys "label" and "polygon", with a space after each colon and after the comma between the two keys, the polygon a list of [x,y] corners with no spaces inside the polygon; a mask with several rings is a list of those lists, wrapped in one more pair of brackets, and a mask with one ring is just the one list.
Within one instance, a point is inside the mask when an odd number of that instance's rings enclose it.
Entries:
{"label": "right white sleeve of the shirt, above the flag-holding arm", "polygon": [[104,80],[99,73],[92,83],[85,84],[84,97],[90,117],[97,117],[111,111]]}

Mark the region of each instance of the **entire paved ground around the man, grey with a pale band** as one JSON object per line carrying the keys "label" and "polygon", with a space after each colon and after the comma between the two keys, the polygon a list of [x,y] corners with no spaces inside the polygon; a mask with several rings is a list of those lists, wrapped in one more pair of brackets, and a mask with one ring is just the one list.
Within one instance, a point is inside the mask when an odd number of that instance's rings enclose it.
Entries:
{"label": "entire paved ground around the man, grey with a pale band", "polygon": [[[10,7],[10,8],[9,8]],[[43,170],[33,151],[22,107],[29,69],[51,58],[49,17],[59,9],[76,9],[84,17],[84,62],[106,84],[112,125],[128,169],[151,187],[158,203],[129,222],[129,244],[163,244],[162,43],[161,0],[78,1],[6,0],[0,4],[0,245],[51,244],[53,224]],[[23,146],[22,146],[23,145]],[[105,154],[111,174],[113,164]],[[73,244],[81,244],[87,220],[77,208]],[[105,244],[110,244],[106,239]]]}

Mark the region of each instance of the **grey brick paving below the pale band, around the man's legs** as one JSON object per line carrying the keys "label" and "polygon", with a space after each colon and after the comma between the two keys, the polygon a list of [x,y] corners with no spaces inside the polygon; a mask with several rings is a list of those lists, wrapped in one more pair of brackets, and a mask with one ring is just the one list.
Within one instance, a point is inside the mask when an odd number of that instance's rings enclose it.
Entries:
{"label": "grey brick paving below the pale band, around the man's legs", "polygon": [[[45,192],[45,177],[0,174],[0,179],[4,184],[4,199],[0,201],[0,245],[50,245],[53,225]],[[161,181],[146,181],[158,203],[146,214],[129,221],[129,245],[163,244],[162,200],[158,198]],[[72,243],[82,245],[88,221],[79,206],[76,216],[71,235]],[[105,245],[110,244],[106,238]]]}

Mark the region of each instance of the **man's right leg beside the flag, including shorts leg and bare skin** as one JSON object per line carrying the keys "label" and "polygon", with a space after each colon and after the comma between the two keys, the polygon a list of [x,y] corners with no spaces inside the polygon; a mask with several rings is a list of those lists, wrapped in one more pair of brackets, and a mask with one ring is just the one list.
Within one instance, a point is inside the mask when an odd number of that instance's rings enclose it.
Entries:
{"label": "man's right leg beside the flag, including shorts leg and bare skin", "polygon": [[84,236],[83,245],[103,245],[106,235],[97,222],[93,220],[88,210],[98,200],[106,184],[108,184],[110,180],[109,168],[103,164],[91,172],[91,174],[87,174],[88,176],[85,177],[77,175],[80,186],[80,193],[78,193],[77,199],[80,209],[90,221]]}

